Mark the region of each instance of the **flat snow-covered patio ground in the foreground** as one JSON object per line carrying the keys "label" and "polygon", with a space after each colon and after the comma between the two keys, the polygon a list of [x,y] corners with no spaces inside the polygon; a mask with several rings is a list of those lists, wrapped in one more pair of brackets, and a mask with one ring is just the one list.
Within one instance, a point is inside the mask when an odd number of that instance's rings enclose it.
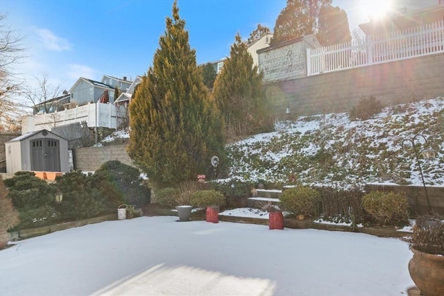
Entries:
{"label": "flat snow-covered patio ground in the foreground", "polygon": [[0,251],[9,295],[407,295],[397,238],[178,217],[106,221]]}

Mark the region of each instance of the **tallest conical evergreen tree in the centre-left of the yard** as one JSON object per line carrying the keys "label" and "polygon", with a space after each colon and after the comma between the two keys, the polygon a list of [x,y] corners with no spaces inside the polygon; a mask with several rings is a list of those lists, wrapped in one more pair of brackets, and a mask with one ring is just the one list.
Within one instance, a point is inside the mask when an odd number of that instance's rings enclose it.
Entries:
{"label": "tallest conical evergreen tree in the centre-left of the yard", "polygon": [[151,180],[174,185],[208,173],[212,155],[224,159],[225,136],[177,1],[166,26],[153,66],[130,104],[128,153]]}

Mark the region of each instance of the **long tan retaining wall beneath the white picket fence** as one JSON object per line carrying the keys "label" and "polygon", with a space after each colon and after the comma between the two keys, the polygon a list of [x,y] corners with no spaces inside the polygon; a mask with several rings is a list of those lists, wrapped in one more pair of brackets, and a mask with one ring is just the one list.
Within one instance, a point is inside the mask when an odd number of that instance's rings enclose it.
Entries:
{"label": "long tan retaining wall beneath the white picket fence", "polygon": [[348,112],[362,97],[384,105],[444,96],[444,53],[264,85],[275,116]]}

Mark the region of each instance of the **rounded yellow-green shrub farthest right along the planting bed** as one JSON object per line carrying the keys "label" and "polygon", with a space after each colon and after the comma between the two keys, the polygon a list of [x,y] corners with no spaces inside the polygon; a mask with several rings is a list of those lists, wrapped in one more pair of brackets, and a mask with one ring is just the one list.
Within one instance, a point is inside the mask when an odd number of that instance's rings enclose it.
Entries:
{"label": "rounded yellow-green shrub farthest right along the planting bed", "polygon": [[364,210],[377,225],[409,224],[409,203],[405,195],[394,192],[372,191],[362,198]]}

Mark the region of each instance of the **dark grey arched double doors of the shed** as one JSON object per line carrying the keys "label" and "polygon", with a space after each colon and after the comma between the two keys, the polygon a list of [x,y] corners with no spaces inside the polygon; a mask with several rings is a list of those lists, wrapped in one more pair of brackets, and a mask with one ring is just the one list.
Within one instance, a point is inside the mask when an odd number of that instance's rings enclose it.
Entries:
{"label": "dark grey arched double doors of the shed", "polygon": [[60,172],[60,148],[56,139],[31,141],[31,171]]}

